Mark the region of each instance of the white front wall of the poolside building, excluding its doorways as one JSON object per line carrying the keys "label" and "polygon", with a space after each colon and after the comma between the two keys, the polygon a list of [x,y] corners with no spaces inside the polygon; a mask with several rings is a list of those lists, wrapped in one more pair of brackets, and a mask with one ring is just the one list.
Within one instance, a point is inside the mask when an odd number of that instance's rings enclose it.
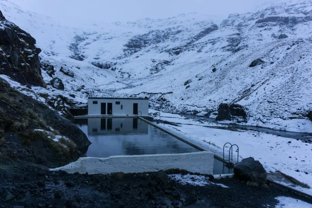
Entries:
{"label": "white front wall of the poolside building, excluding its doorways", "polygon": [[[93,104],[94,100],[98,101],[98,104]],[[116,105],[116,101],[119,101],[120,105]],[[145,99],[88,99],[88,115],[101,115],[101,103],[106,103],[106,113],[107,103],[112,103],[113,115],[134,115],[134,103],[138,104],[138,111],[141,111],[143,116],[149,115],[149,100]],[[141,114],[139,113],[139,115]]]}

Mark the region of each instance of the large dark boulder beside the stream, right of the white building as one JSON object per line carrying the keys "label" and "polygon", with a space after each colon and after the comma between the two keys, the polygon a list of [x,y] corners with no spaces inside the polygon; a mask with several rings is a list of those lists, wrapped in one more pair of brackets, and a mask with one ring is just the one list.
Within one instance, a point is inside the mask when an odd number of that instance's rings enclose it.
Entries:
{"label": "large dark boulder beside the stream, right of the white building", "polygon": [[218,108],[217,121],[229,120],[238,122],[247,122],[247,113],[245,108],[239,104],[221,103]]}

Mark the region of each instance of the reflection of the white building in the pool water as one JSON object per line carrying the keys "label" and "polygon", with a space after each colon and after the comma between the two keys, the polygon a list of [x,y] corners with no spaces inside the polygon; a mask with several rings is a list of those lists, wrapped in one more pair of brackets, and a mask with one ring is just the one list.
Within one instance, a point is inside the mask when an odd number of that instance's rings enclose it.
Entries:
{"label": "reflection of the white building in the pool water", "polygon": [[88,119],[88,135],[148,134],[149,124],[138,118]]}

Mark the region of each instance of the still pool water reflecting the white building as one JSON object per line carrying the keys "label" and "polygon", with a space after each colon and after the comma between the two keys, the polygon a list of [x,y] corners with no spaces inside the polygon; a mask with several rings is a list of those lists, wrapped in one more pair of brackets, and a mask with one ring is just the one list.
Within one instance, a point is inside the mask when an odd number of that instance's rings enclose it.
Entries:
{"label": "still pool water reflecting the white building", "polygon": [[92,143],[88,157],[200,151],[137,118],[75,119],[75,123]]}

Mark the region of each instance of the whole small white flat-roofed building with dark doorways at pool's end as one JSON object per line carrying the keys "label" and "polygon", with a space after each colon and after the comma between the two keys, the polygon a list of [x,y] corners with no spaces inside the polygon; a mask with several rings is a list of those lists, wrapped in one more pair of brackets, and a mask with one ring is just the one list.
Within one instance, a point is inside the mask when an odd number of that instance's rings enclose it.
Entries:
{"label": "whole small white flat-roofed building with dark doorways at pool's end", "polygon": [[149,99],[145,98],[88,98],[88,115],[148,116]]}

